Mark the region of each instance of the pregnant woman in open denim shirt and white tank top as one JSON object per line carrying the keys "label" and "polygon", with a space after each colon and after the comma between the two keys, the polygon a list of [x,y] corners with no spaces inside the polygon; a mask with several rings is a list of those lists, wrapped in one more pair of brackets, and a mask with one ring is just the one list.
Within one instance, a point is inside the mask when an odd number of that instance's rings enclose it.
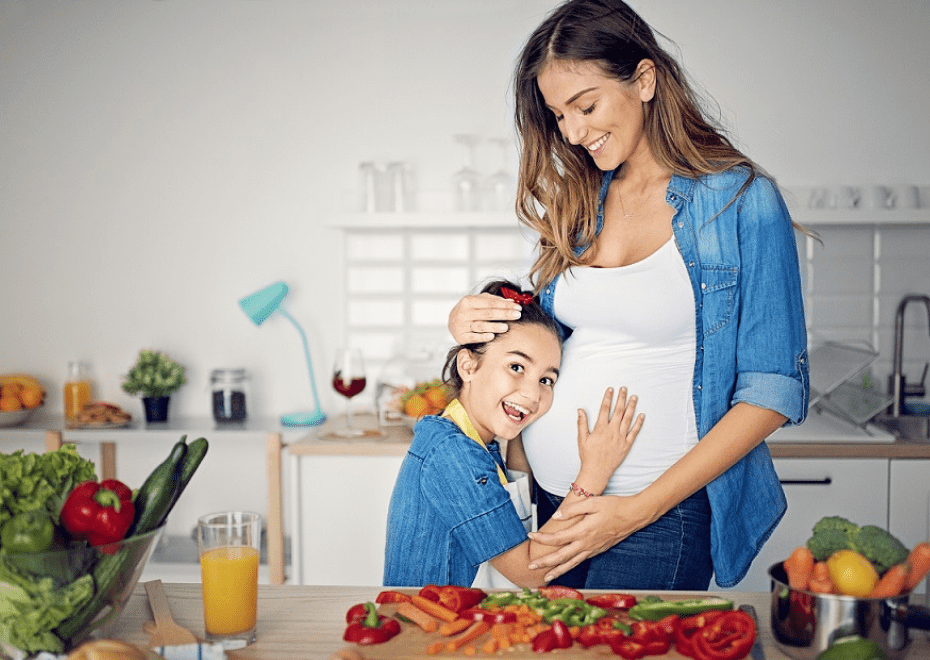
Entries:
{"label": "pregnant woman in open denim shirt and white tank top", "polygon": [[[508,447],[531,468],[537,559],[574,587],[739,582],[785,512],[764,440],[809,396],[794,228],[775,183],[704,115],[681,68],[620,0],[571,0],[515,78],[517,213],[530,279],[566,337],[549,414]],[[452,311],[456,341],[517,318],[499,296]],[[622,381],[649,418],[602,491],[574,486],[576,410]],[[526,465],[528,463],[528,466]],[[521,469],[521,468],[517,468]],[[562,504],[579,489],[584,497]]]}

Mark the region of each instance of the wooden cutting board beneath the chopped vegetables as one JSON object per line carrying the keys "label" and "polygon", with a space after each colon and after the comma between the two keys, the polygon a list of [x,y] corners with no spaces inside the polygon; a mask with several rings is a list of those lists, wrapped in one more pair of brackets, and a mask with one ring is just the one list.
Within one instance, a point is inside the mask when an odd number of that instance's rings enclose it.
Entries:
{"label": "wooden cutting board beneath the chopped vegetables", "polygon": [[[393,616],[397,611],[397,606],[393,604],[384,604],[378,606],[378,613],[387,616]],[[395,660],[396,658],[411,658],[412,660],[442,660],[443,658],[465,658],[462,649],[457,651],[443,650],[437,655],[429,655],[426,652],[427,647],[440,640],[449,640],[449,637],[443,637],[438,632],[423,632],[413,623],[401,622],[401,631],[399,635],[394,636],[384,644],[372,644],[371,646],[358,646],[357,644],[346,644],[342,654],[332,656],[331,660]],[[615,655],[610,647],[606,644],[599,644],[591,648],[584,648],[581,644],[573,644],[569,649],[557,649],[550,653],[534,653],[530,644],[515,644],[506,651],[498,651],[493,655],[487,655],[481,652],[481,646],[485,641],[490,639],[488,634],[479,637],[472,646],[478,649],[478,653],[473,658],[508,658],[513,660],[542,660],[545,658],[619,658]],[[649,656],[650,658],[663,658],[664,660],[688,660],[675,650],[672,645],[671,651],[664,656]]]}

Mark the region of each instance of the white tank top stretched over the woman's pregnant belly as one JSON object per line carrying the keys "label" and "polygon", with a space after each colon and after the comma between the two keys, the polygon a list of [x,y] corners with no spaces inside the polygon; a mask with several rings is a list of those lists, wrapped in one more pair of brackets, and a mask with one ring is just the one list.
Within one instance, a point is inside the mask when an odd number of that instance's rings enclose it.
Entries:
{"label": "white tank top stretched over the woman's pregnant belly", "polygon": [[605,493],[638,493],[698,440],[694,295],[681,254],[669,239],[635,264],[574,268],[556,283],[554,302],[573,332],[552,408],[523,432],[533,476],[550,493],[567,493],[581,466],[578,408],[593,428],[604,390],[626,386],[646,421]]}

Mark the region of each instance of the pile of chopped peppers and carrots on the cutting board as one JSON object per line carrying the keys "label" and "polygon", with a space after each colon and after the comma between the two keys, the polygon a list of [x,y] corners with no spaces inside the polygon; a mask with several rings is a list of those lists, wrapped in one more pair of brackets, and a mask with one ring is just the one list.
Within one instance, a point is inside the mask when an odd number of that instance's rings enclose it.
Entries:
{"label": "pile of chopped peppers and carrots on the cutting board", "polygon": [[494,655],[520,644],[548,653],[578,644],[607,646],[625,660],[664,655],[673,646],[695,660],[738,660],[749,654],[757,633],[753,618],[722,598],[585,598],[567,587],[487,594],[427,585],[412,594],[382,591],[375,602],[382,609],[359,603],[347,612],[346,641],[389,642],[399,634],[389,626],[399,621],[400,633],[415,626],[431,634],[428,655]]}

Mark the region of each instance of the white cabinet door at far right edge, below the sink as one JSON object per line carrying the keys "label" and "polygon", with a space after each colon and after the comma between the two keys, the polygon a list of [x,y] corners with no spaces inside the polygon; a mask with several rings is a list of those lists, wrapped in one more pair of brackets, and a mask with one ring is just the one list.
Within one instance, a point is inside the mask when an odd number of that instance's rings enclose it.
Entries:
{"label": "white cabinet door at far right edge, below the sink", "polygon": [[[908,548],[930,540],[930,460],[891,462],[888,530]],[[916,589],[927,593],[930,581]]]}

